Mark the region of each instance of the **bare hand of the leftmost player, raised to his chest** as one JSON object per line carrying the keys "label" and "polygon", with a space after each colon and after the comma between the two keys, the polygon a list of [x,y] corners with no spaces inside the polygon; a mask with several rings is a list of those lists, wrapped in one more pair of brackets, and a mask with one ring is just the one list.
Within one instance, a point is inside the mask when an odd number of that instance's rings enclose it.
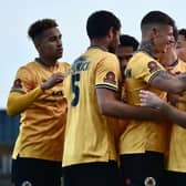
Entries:
{"label": "bare hand of the leftmost player, raised to his chest", "polygon": [[61,73],[61,72],[58,72],[58,73],[54,73],[52,74],[48,81],[45,81],[42,85],[41,85],[41,89],[42,90],[48,90],[48,89],[51,89],[53,87],[55,84],[59,84],[61,82],[63,82],[64,80],[64,74]]}

